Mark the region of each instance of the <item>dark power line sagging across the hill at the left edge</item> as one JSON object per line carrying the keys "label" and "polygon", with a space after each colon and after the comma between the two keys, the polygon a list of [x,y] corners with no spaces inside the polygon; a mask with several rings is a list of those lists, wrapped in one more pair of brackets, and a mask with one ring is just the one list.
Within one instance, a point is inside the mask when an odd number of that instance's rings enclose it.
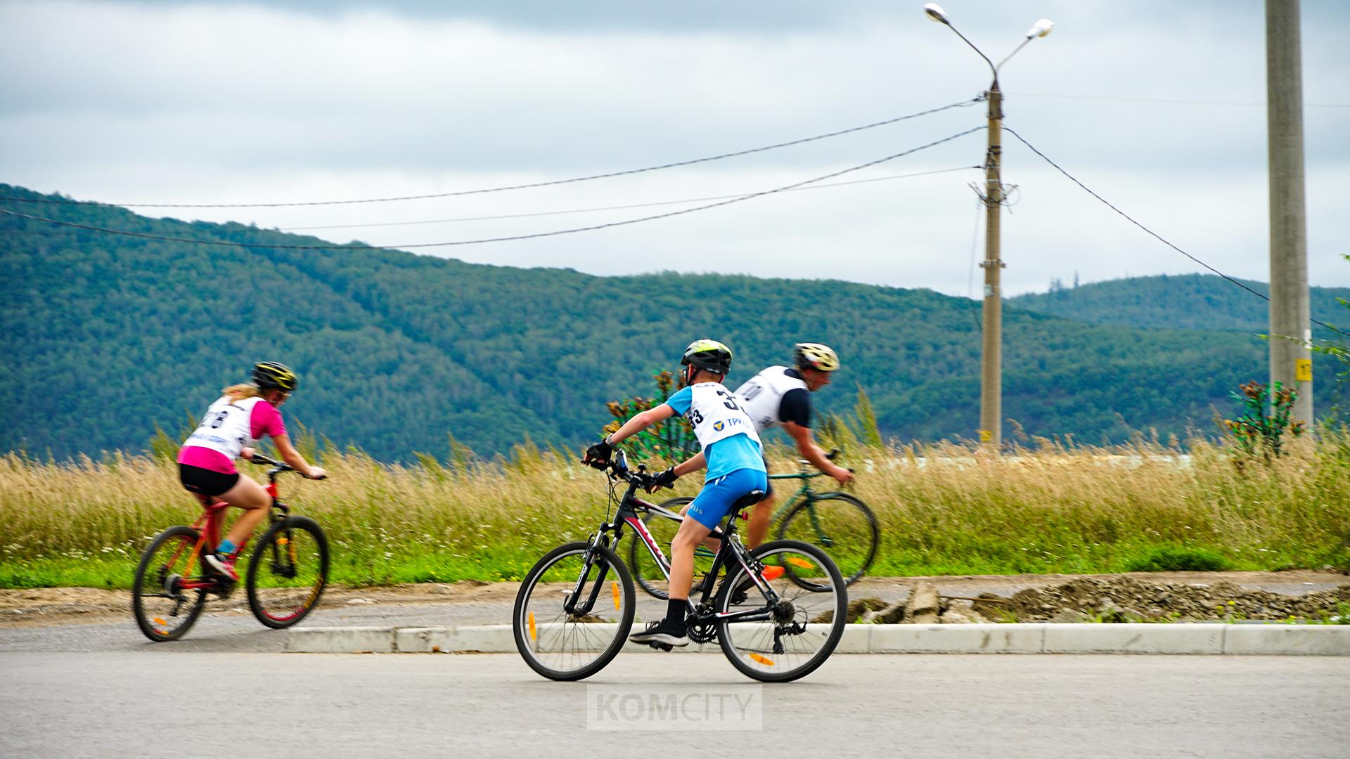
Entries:
{"label": "dark power line sagging across the hill at the left edge", "polygon": [[918,153],[921,150],[926,150],[929,147],[934,147],[934,146],[942,145],[945,142],[950,142],[950,140],[957,139],[960,136],[965,136],[968,134],[977,132],[977,131],[980,131],[983,128],[986,128],[986,127],[981,124],[979,127],[972,127],[969,130],[960,131],[960,132],[956,132],[953,135],[948,135],[948,136],[945,136],[942,139],[936,139],[936,140],[933,140],[930,143],[921,145],[918,147],[911,147],[909,150],[903,150],[900,153],[895,153],[895,154],[887,155],[884,158],[878,158],[875,161],[868,161],[867,163],[860,163],[857,166],[850,166],[848,169],[841,169],[838,172],[832,172],[832,173],[825,174],[822,177],[815,177],[813,180],[803,180],[801,182],[794,182],[791,185],[784,185],[784,186],[780,186],[780,188],[774,188],[774,189],[768,189],[768,190],[763,190],[763,192],[756,192],[756,193],[751,193],[751,194],[742,194],[742,196],[733,197],[730,200],[721,200],[721,201],[717,201],[717,203],[709,203],[706,205],[695,205],[694,208],[683,208],[683,209],[679,209],[679,211],[670,211],[670,212],[666,212],[666,213],[656,213],[656,215],[652,215],[652,216],[640,216],[637,219],[625,219],[622,221],[608,221],[605,224],[591,224],[589,227],[572,227],[572,228],[568,228],[568,230],[554,230],[551,232],[535,232],[535,234],[528,234],[528,235],[506,235],[506,236],[500,236],[500,238],[479,238],[479,239],[470,239],[470,240],[451,240],[451,242],[443,242],[443,243],[416,243],[416,244],[397,244],[397,246],[393,246],[393,244],[392,246],[364,246],[364,244],[362,244],[362,246],[350,246],[350,244],[335,246],[335,244],[238,243],[238,242],[228,242],[228,240],[202,240],[202,239],[192,239],[192,238],[176,238],[176,236],[169,236],[169,235],[151,235],[151,234],[147,234],[147,232],[131,232],[131,231],[127,231],[127,230],[109,230],[107,227],[94,227],[92,224],[77,224],[74,221],[61,221],[58,219],[47,219],[47,217],[43,217],[43,216],[34,216],[31,213],[20,213],[18,211],[11,211],[8,208],[0,208],[0,213],[7,213],[9,216],[16,216],[19,219],[28,219],[28,220],[32,220],[32,221],[45,221],[47,224],[58,224],[58,226],[62,226],[62,227],[73,227],[73,228],[77,228],[77,230],[88,230],[88,231],[92,231],[92,232],[104,232],[104,234],[109,234],[109,235],[123,235],[123,236],[130,236],[130,238],[140,238],[140,239],[151,239],[151,240],[193,243],[193,244],[209,244],[209,246],[224,246],[224,247],[248,247],[248,248],[267,247],[267,248],[274,248],[274,250],[400,250],[400,248],[406,250],[406,248],[420,248],[420,247],[447,247],[447,246],[460,246],[460,244],[497,243],[497,242],[510,242],[510,240],[528,240],[528,239],[536,239],[536,238],[551,238],[551,236],[556,236],[556,235],[570,235],[570,234],[575,234],[575,232],[591,232],[591,231],[595,231],[595,230],[608,230],[610,227],[624,227],[624,226],[628,226],[628,224],[637,224],[640,221],[653,221],[656,219],[668,219],[671,216],[682,216],[684,213],[694,213],[697,211],[706,211],[709,208],[718,208],[718,207],[722,207],[722,205],[730,205],[733,203],[741,203],[741,201],[751,200],[751,199],[755,199],[755,197],[763,197],[763,196],[767,196],[767,194],[787,192],[787,190],[791,190],[791,189],[795,189],[795,188],[801,188],[801,186],[805,186],[805,185],[810,185],[810,184],[815,184],[815,182],[822,182],[825,180],[833,180],[834,177],[841,177],[841,176],[852,173],[852,172],[860,172],[863,169],[868,169],[871,166],[878,166],[880,163],[886,163],[887,161],[894,161],[896,158],[902,158],[905,155],[910,155],[910,154]]}

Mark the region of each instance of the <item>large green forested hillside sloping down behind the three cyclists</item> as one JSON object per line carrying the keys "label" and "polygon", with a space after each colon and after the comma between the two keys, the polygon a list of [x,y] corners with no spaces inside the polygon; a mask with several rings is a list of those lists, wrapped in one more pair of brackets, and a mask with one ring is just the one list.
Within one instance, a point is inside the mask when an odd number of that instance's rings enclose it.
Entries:
{"label": "large green forested hillside sloping down behind the three cyclists", "polygon": [[[54,197],[4,185],[0,193]],[[151,235],[324,244],[112,207],[0,205]],[[382,459],[444,458],[451,434],[481,454],[526,435],[578,443],[608,421],[605,401],[649,394],[651,374],[674,369],[702,336],[736,350],[733,384],[784,362],[794,342],[830,343],[845,369],[818,396],[825,411],[849,412],[861,385],[890,435],[976,435],[979,304],[929,290],[216,247],[7,215],[0,246],[0,450],[58,458],[140,450],[155,424],[176,434],[258,359],[301,373],[288,419]],[[1034,435],[1091,443],[1150,427],[1184,432],[1188,420],[1211,428],[1211,407],[1228,409],[1230,389],[1265,374],[1265,344],[1238,332],[1089,325],[1008,309],[1004,346],[1004,416]],[[1319,365],[1322,388],[1328,369]]]}

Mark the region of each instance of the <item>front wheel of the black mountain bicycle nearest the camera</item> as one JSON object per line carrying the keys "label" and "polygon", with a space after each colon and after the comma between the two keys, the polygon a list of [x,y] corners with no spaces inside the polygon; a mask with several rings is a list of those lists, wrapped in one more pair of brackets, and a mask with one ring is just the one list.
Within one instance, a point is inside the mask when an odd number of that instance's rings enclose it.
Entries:
{"label": "front wheel of the black mountain bicycle nearest the camera", "polygon": [[516,650],[549,679],[587,678],[628,640],[637,600],[633,575],[609,548],[568,543],[529,570],[516,596]]}

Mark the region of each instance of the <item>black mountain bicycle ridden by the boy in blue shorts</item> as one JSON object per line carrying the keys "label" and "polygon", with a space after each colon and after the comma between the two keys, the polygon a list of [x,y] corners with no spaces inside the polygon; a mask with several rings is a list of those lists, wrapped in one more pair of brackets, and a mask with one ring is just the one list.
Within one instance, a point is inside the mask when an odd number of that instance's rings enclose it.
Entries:
{"label": "black mountain bicycle ridden by the boy in blue shorts", "polygon": [[[639,488],[653,486],[655,477],[643,466],[629,470],[621,451],[603,469],[610,481],[610,505],[618,502],[614,520],[609,521],[606,512],[606,521],[590,540],[559,546],[544,555],[516,596],[516,648],[531,669],[551,679],[590,677],[628,643],[637,606],[633,577],[613,551],[625,525],[670,578],[670,562],[639,517],[659,509],[636,496]],[[618,497],[621,482],[626,489]],[[736,520],[761,496],[742,498],[745,502],[732,509],[726,525],[710,535],[720,546],[709,581],[690,594],[686,621],[691,642],[718,642],[742,674],[787,682],[814,671],[838,646],[848,621],[848,589],[838,567],[815,546],[775,540],[749,551],[741,544]],[[783,569],[765,571],[768,567]],[[807,582],[791,579],[788,570]]]}

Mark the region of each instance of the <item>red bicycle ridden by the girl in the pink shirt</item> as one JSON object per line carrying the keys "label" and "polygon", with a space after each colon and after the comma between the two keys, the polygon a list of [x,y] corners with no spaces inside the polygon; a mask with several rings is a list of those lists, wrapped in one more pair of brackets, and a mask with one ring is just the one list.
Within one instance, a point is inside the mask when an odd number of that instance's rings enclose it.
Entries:
{"label": "red bicycle ridden by the girl in the pink shirt", "polygon": [[[277,497],[277,475],[296,471],[262,454],[252,463],[267,470],[271,523],[248,560],[244,586],[248,608],[262,624],[281,629],[309,614],[324,593],[328,578],[328,538],[319,523],[290,513]],[[157,643],[182,637],[201,616],[207,594],[228,598],[238,585],[201,560],[202,551],[220,544],[224,513],[230,504],[216,501],[192,527],[170,527],[146,547],[131,585],[131,608],[146,637]],[[240,547],[242,554],[247,547]]]}

